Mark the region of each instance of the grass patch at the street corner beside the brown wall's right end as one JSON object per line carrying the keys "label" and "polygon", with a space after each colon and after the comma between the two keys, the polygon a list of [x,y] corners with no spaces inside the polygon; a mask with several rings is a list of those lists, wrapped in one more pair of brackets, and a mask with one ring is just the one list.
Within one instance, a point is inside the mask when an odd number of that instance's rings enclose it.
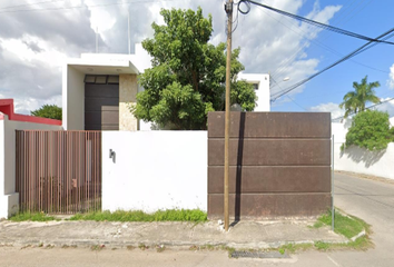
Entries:
{"label": "grass patch at the street corner beside the brown wall's right end", "polygon": [[[332,211],[328,210],[326,214],[322,215],[317,218],[314,227],[319,228],[324,225],[332,225]],[[345,216],[338,211],[335,211],[334,216],[334,231],[341,234],[347,238],[352,238],[358,235],[363,229],[367,230],[370,225],[364,220],[354,217],[354,216]]]}

